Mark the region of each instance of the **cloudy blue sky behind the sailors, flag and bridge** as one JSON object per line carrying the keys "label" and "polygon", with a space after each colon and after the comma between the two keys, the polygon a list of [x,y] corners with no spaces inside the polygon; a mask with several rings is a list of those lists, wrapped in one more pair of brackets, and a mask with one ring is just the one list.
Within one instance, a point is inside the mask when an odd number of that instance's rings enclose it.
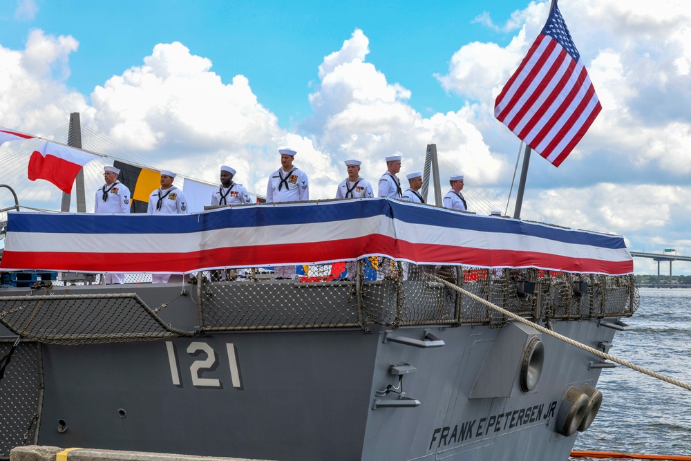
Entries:
{"label": "cloudy blue sky behind the sailors, flag and bridge", "polygon": [[[229,164],[259,194],[277,149],[292,147],[312,198],[334,196],[343,160],[362,160],[376,183],[385,156],[402,153],[404,177],[434,143],[442,180],[466,176],[471,211],[513,214],[520,141],[493,117],[494,100],[549,1],[2,4],[4,128],[53,133],[79,112],[144,164],[211,182]],[[559,7],[603,111],[560,167],[533,154],[521,217],[691,256],[691,3]],[[0,183],[14,180],[9,163]]]}

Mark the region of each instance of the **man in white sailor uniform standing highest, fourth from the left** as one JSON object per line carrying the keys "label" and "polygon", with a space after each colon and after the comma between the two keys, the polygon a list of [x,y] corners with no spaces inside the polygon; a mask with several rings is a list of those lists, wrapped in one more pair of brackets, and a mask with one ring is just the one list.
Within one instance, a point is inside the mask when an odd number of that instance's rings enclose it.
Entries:
{"label": "man in white sailor uniform standing highest, fourth from the left", "polygon": [[[266,186],[266,203],[310,200],[310,185],[307,182],[307,175],[293,166],[293,159],[297,152],[285,148],[280,149],[278,153],[281,154],[281,168],[269,176]],[[276,279],[293,279],[295,266],[276,265],[274,266],[274,276]]]}

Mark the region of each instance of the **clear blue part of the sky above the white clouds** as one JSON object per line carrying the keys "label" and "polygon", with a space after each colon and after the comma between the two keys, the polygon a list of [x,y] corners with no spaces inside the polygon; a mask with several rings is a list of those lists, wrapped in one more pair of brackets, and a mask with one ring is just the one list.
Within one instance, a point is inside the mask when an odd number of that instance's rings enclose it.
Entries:
{"label": "clear blue part of the sky above the white clouds", "polygon": [[392,82],[405,82],[421,113],[457,111],[434,74],[469,41],[505,45],[513,37],[474,21],[484,13],[504,22],[524,1],[36,1],[34,19],[2,17],[0,43],[21,48],[40,28],[72,35],[66,84],[89,95],[97,84],[141,64],[159,43],[180,41],[208,57],[225,80],[245,75],[258,99],[285,128],[310,114],[308,86],[323,57],[355,28],[372,44],[368,56]]}

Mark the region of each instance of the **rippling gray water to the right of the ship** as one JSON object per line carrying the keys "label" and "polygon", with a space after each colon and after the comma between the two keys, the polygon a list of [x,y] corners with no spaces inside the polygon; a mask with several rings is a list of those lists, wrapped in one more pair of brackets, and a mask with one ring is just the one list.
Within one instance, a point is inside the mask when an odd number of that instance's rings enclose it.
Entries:
{"label": "rippling gray water to the right of the ship", "polygon": [[[691,290],[641,288],[609,354],[691,384]],[[691,455],[691,391],[618,365],[600,375],[603,406],[576,450]]]}

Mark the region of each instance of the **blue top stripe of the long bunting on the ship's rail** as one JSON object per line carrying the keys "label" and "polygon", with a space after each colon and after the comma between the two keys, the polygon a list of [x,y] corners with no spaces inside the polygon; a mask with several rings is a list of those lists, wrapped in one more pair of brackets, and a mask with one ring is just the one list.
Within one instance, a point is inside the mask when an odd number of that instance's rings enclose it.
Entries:
{"label": "blue top stripe of the long bunting on the ship's rail", "polygon": [[626,247],[621,236],[607,236],[537,223],[526,223],[520,220],[420,207],[388,198],[276,206],[252,205],[187,215],[10,213],[8,231],[70,234],[162,234],[163,236],[165,234],[186,234],[240,227],[329,223],[373,216],[386,216],[410,224],[533,236],[576,245],[609,249]]}

